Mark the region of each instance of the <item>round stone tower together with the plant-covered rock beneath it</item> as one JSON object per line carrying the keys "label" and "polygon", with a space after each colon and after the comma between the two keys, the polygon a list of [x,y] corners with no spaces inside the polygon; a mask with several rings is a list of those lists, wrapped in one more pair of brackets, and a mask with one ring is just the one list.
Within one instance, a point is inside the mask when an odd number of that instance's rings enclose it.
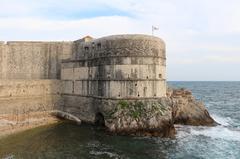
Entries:
{"label": "round stone tower together with the plant-covered rock beneath it", "polygon": [[166,55],[160,38],[81,39],[73,43],[72,55],[63,60],[61,70],[65,112],[91,123],[102,116],[115,133],[174,134],[171,107],[162,98],[166,97]]}

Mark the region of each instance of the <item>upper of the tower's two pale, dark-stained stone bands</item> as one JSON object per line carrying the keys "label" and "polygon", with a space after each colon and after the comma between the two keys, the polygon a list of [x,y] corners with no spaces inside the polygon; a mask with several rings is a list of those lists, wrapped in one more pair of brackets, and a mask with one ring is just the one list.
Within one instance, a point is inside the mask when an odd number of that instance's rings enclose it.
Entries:
{"label": "upper of the tower's two pale, dark-stained stone bands", "polygon": [[[64,65],[64,64],[63,64]],[[161,65],[105,65],[102,68],[93,67],[65,67],[62,69],[63,80],[98,79],[98,69],[102,70],[102,79],[166,79],[165,67]]]}

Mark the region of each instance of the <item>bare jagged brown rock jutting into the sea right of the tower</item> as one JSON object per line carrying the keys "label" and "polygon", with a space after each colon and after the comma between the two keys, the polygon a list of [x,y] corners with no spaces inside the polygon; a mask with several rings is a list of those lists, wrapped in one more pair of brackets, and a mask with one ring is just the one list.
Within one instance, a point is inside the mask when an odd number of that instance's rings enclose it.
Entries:
{"label": "bare jagged brown rock jutting into the sea right of the tower", "polygon": [[214,126],[217,123],[209,115],[202,102],[197,101],[186,89],[168,89],[167,97],[172,101],[174,124]]}

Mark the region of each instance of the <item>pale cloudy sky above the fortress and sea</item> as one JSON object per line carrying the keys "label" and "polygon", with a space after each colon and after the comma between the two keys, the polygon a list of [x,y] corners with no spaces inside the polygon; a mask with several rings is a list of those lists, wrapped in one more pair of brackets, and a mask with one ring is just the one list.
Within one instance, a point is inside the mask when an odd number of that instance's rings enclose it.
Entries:
{"label": "pale cloudy sky above the fortress and sea", "polygon": [[0,41],[149,34],[168,81],[240,81],[239,0],[0,0]]}

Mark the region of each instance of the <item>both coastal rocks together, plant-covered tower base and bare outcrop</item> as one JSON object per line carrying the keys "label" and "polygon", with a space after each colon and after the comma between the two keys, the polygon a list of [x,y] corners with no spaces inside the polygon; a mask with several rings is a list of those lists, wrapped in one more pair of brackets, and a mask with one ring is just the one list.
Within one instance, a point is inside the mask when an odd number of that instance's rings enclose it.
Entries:
{"label": "both coastal rocks together, plant-covered tower base and bare outcrop", "polygon": [[136,136],[174,137],[174,124],[217,125],[204,104],[186,89],[168,89],[167,97],[157,100],[122,100],[105,116],[110,132]]}

